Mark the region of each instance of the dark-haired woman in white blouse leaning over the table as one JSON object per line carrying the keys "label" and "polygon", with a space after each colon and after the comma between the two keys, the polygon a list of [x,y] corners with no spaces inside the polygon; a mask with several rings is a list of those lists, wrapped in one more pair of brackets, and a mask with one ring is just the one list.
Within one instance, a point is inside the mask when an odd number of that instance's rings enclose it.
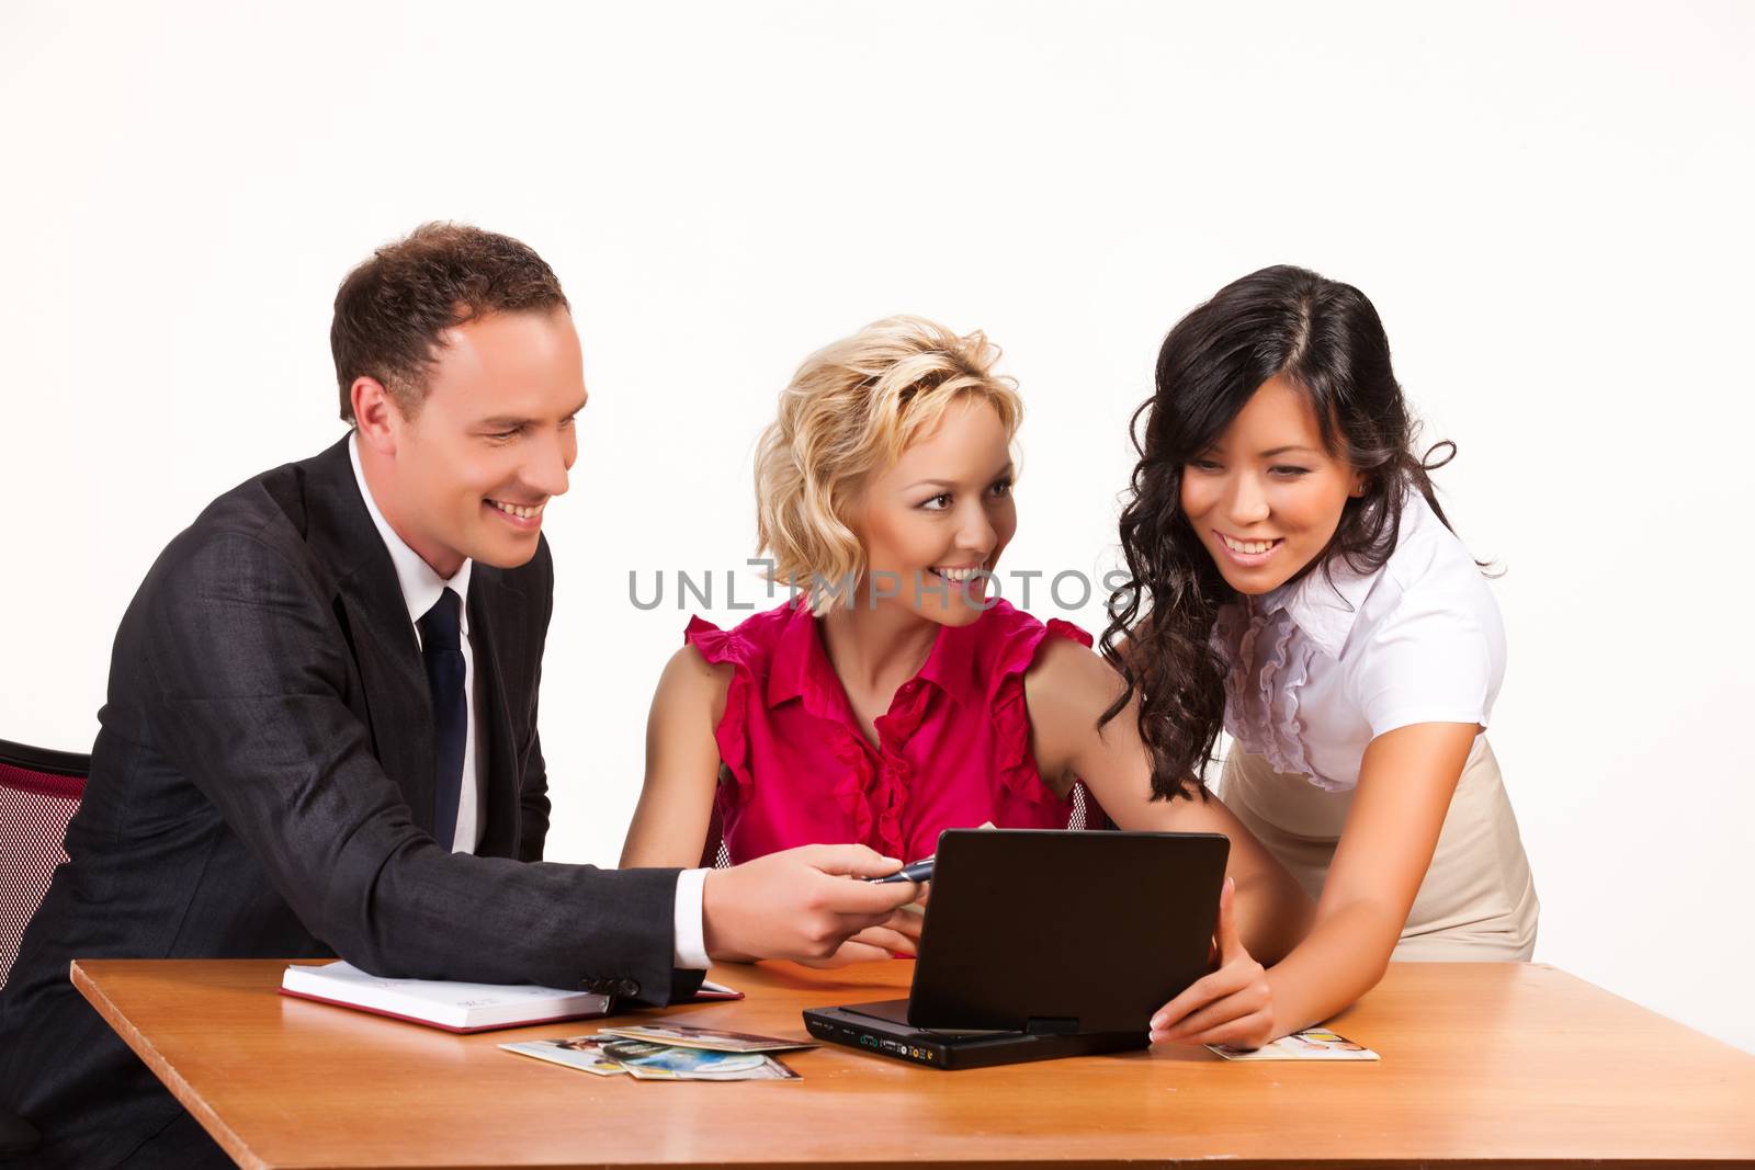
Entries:
{"label": "dark-haired woman in white blouse leaning over the table", "polygon": [[1255,1045],[1341,1010],[1392,956],[1536,945],[1485,738],[1504,630],[1413,439],[1383,325],[1348,284],[1264,268],[1164,342],[1121,514],[1130,603],[1104,651],[1155,791],[1204,795],[1228,731],[1223,802],[1318,903],[1265,972],[1221,937],[1155,1040]]}

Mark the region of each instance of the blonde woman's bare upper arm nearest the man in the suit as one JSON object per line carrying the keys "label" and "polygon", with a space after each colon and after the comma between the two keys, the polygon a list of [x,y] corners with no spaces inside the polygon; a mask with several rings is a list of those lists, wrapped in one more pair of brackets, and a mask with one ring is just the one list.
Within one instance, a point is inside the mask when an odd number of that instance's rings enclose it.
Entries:
{"label": "blonde woman's bare upper arm nearest the man in the suit", "polygon": [[720,746],[732,667],[713,665],[693,646],[665,663],[646,716],[646,782],[621,844],[621,868],[695,868],[713,823]]}

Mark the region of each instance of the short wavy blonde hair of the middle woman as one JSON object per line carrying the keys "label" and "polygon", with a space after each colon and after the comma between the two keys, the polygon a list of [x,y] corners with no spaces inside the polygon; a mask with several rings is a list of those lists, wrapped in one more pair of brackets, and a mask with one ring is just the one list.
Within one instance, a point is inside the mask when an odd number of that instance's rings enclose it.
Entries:
{"label": "short wavy blonde hair of the middle woman", "polygon": [[[804,360],[756,446],[756,547],[770,577],[809,595],[818,616],[851,603],[865,572],[848,526],[869,475],[892,467],[956,402],[986,402],[1018,433],[1023,400],[995,375],[999,347],[925,317],[885,317]],[[827,588],[825,588],[827,586]]]}

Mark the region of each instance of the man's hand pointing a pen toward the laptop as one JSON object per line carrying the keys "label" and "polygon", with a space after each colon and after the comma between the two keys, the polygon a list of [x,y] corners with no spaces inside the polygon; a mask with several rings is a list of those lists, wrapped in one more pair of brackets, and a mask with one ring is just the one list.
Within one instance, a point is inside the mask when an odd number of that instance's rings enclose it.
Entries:
{"label": "man's hand pointing a pen toward the laptop", "polygon": [[[709,870],[700,891],[707,954],[720,961],[835,960],[863,930],[893,931],[892,916],[920,896],[914,882],[855,881],[895,874],[902,863],[865,845],[800,845],[784,853]],[[902,935],[897,933],[897,938]],[[853,958],[888,958],[883,945],[858,947]]]}

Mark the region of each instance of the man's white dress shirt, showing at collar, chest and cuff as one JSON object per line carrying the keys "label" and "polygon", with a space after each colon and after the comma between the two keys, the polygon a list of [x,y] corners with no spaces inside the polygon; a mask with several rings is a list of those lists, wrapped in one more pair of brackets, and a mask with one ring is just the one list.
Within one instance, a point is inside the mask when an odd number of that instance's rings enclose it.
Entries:
{"label": "man's white dress shirt, showing at collar, chest and cuff", "polygon": [[[360,470],[360,435],[355,432],[347,439],[347,460],[353,463],[353,479],[360,486],[360,498],[372,516],[390,561],[397,568],[397,584],[402,586],[402,602],[409,609],[409,624],[414,630],[414,644],[419,646],[419,619],[433,607],[444,589],[453,589],[463,602],[462,612],[462,649],[463,649],[463,695],[469,703],[469,730],[463,737],[463,786],[456,810],[456,833],[451,838],[451,853],[476,853],[481,844],[481,830],[486,824],[483,802],[486,784],[481,782],[481,761],[476,751],[476,656],[469,646],[469,568],[465,560],[456,575],[446,581],[433,572],[432,565],[397,535],[384,514],[377,510],[372,489],[365,484],[365,472]],[[707,870],[683,870],[676,882],[676,940],[672,961],[679,968],[707,970],[713,960],[707,956],[706,930],[702,926],[700,898],[707,882]]]}

